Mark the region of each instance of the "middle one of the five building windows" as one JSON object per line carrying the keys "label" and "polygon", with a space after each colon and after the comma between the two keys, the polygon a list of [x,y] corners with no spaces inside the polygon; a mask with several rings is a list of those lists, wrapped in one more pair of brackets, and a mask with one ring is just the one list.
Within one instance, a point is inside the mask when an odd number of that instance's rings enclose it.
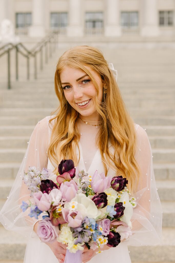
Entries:
{"label": "middle one of the five building windows", "polygon": [[103,13],[86,12],[86,28],[103,28]]}

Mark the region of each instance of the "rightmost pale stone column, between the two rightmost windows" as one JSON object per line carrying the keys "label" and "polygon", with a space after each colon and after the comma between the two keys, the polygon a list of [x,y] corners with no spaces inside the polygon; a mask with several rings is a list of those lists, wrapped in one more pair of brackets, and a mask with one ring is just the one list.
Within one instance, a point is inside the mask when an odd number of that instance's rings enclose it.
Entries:
{"label": "rightmost pale stone column, between the two rightmost windows", "polygon": [[158,36],[158,9],[157,0],[141,0],[142,6],[142,36]]}

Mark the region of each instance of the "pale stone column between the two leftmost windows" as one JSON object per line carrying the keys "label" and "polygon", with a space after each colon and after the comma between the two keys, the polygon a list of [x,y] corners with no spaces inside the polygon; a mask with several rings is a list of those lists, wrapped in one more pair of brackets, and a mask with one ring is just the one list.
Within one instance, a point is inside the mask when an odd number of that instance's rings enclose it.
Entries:
{"label": "pale stone column between the two leftmost windows", "polygon": [[29,27],[30,37],[44,37],[44,1],[33,0],[32,3],[32,26]]}

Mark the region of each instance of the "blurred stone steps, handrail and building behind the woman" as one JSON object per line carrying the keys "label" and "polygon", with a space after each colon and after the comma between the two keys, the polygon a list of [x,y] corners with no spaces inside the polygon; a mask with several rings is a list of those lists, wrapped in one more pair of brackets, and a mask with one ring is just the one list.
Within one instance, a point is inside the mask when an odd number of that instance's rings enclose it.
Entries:
{"label": "blurred stone steps, handrail and building behind the woman", "polygon": [[[175,0],[0,0],[0,209],[36,123],[58,106],[54,72],[69,47],[92,45],[118,70],[149,137],[163,208],[160,244],[132,262],[175,262]],[[0,224],[0,263],[23,261],[26,237]]]}

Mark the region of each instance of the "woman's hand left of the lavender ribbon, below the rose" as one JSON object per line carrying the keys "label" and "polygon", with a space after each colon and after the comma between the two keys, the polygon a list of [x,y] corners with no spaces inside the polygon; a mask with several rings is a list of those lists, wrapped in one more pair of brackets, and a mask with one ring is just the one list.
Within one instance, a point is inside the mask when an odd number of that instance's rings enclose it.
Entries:
{"label": "woman's hand left of the lavender ribbon, below the rose", "polygon": [[66,255],[66,245],[58,242],[56,239],[52,242],[46,243],[60,263],[63,263]]}

